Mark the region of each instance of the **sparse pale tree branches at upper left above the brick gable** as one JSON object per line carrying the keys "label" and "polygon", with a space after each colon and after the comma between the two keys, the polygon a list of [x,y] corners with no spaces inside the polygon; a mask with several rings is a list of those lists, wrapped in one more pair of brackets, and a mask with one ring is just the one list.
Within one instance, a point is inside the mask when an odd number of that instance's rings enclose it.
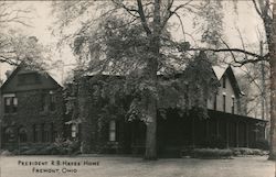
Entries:
{"label": "sparse pale tree branches at upper left above the brick gable", "polygon": [[28,65],[42,68],[46,59],[45,47],[38,42],[35,36],[25,36],[15,32],[14,26],[31,26],[31,9],[22,8],[17,2],[0,2],[0,63]]}

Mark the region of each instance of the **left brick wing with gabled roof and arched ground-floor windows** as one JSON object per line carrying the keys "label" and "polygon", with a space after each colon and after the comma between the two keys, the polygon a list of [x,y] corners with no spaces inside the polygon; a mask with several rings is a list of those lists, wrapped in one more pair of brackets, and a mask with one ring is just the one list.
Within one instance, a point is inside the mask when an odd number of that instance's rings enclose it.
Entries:
{"label": "left brick wing with gabled roof and arched ground-floor windows", "polygon": [[1,148],[49,144],[63,131],[62,87],[21,64],[0,89]]}

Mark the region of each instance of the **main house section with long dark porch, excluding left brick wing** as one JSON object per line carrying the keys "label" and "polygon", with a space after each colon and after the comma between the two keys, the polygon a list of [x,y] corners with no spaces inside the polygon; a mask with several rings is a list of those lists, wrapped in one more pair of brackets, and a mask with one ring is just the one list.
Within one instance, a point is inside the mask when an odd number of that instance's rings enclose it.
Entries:
{"label": "main house section with long dark porch, excluding left brick wing", "polygon": [[[206,101],[208,119],[195,119],[195,114],[179,114],[176,109],[166,111],[167,119],[158,115],[157,143],[159,154],[189,147],[258,147],[265,137],[266,121],[242,115],[241,91],[231,66],[213,67],[220,87]],[[108,76],[98,80],[108,81]],[[123,78],[120,78],[123,79]],[[106,120],[95,112],[103,106],[94,100],[94,76],[81,79],[76,91],[79,108],[72,123],[74,137],[78,134],[82,152],[142,153],[145,151],[146,124],[141,121],[126,121],[121,118]],[[94,81],[93,81],[94,80]],[[94,82],[94,84],[93,84]]]}

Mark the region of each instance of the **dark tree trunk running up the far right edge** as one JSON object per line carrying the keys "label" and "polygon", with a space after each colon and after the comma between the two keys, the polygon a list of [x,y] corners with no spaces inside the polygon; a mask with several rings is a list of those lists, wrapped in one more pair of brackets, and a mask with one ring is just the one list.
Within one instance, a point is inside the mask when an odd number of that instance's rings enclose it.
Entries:
{"label": "dark tree trunk running up the far right edge", "polygon": [[[274,0],[276,2],[276,0]],[[276,159],[276,3],[273,5],[273,34],[267,38],[270,66],[270,148],[269,159]]]}

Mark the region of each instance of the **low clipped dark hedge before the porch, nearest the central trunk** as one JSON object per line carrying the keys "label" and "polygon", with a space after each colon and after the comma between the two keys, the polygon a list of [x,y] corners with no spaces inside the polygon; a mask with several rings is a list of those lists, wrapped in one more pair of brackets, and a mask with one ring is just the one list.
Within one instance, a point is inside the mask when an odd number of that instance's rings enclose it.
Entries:
{"label": "low clipped dark hedge before the porch, nearest the central trunk", "polygon": [[192,151],[192,157],[195,158],[230,158],[232,151],[229,148],[195,148]]}

